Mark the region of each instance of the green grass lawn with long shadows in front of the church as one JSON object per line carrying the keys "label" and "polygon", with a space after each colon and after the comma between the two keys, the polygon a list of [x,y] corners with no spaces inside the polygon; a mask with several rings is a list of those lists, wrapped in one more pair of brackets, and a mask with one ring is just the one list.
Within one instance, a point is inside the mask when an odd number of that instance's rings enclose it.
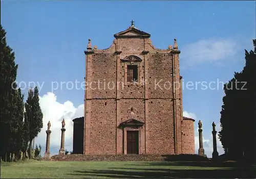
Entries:
{"label": "green grass lawn with long shadows in front of the church", "polygon": [[57,162],[1,164],[1,178],[255,178],[255,166],[210,162]]}

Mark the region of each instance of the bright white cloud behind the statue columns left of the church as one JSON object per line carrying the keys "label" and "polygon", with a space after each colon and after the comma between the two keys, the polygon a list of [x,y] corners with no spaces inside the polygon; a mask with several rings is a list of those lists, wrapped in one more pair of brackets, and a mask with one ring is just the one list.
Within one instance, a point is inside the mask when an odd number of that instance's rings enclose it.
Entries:
{"label": "bright white cloud behind the statue columns left of the church", "polygon": [[42,146],[41,155],[44,155],[46,144],[46,130],[48,121],[51,122],[51,139],[50,152],[52,155],[57,154],[60,148],[61,137],[61,121],[64,118],[66,125],[65,132],[65,148],[72,151],[73,148],[73,119],[83,116],[83,105],[75,108],[71,101],[66,101],[63,104],[58,103],[57,96],[54,93],[48,92],[42,97],[39,97],[39,104],[44,114],[43,128],[35,139],[37,145]]}

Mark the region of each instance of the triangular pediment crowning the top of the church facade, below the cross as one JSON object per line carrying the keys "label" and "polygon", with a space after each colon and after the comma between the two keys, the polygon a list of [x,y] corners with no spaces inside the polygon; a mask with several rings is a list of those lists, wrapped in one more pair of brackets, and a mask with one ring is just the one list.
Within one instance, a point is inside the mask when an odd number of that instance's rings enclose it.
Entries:
{"label": "triangular pediment crowning the top of the church facade, below the cross", "polygon": [[136,28],[130,27],[125,31],[119,32],[114,35],[115,38],[136,38],[136,37],[143,37],[143,38],[150,38],[150,34],[147,34],[143,31],[140,31]]}

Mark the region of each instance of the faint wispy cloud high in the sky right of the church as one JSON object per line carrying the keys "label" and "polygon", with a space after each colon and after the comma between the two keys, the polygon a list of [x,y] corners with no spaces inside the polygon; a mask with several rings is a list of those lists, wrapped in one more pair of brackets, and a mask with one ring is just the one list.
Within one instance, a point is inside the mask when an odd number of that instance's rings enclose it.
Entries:
{"label": "faint wispy cloud high in the sky right of the church", "polygon": [[185,45],[182,49],[181,63],[192,66],[199,63],[223,65],[223,61],[234,56],[238,45],[232,39],[206,39]]}

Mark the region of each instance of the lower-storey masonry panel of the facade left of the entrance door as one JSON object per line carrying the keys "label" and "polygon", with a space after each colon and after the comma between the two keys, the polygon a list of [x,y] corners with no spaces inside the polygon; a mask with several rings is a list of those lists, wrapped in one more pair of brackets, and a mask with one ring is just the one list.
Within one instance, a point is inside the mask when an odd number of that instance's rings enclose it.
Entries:
{"label": "lower-storey masonry panel of the facade left of the entrance door", "polygon": [[90,154],[116,154],[116,101],[91,100]]}

